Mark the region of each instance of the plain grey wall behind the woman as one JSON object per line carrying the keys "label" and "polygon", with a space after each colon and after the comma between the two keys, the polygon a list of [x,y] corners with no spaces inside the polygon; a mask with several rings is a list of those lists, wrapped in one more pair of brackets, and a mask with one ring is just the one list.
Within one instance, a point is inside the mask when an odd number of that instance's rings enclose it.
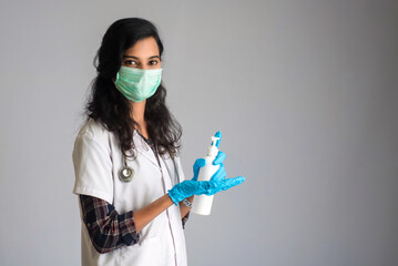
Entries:
{"label": "plain grey wall behind the woman", "polygon": [[397,1],[1,1],[0,264],[80,264],[71,153],[116,19],[153,21],[183,164],[229,177],[190,265],[398,265]]}

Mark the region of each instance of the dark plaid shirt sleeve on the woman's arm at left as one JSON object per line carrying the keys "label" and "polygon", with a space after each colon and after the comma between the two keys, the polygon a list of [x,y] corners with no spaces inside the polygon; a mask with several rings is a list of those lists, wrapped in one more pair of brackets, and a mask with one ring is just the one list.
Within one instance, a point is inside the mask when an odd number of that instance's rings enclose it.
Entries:
{"label": "dark plaid shirt sleeve on the woman's arm at left", "polygon": [[83,222],[91,242],[99,253],[109,253],[123,245],[140,241],[133,211],[119,214],[112,204],[86,195],[80,195]]}

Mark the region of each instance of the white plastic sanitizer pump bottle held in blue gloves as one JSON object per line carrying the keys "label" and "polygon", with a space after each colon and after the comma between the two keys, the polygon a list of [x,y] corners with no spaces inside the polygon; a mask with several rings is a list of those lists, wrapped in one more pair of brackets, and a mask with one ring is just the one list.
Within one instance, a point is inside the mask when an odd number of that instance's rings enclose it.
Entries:
{"label": "white plastic sanitizer pump bottle held in blue gloves", "polygon": [[[214,158],[218,154],[218,149],[216,146],[220,137],[212,136],[212,145],[208,147],[207,155],[204,157],[206,160],[206,165],[201,167],[197,181],[210,181],[215,172],[217,172],[220,165],[213,165]],[[201,215],[210,215],[212,212],[213,196],[198,195],[195,196],[194,202],[192,203],[192,212]]]}

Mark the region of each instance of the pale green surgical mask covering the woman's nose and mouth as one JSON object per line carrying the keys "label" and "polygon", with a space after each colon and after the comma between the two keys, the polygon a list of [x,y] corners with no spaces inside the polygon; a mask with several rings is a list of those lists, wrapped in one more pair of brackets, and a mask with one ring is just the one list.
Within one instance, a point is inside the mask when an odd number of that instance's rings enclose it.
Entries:
{"label": "pale green surgical mask covering the woman's nose and mouth", "polygon": [[121,66],[114,84],[130,101],[142,102],[155,94],[161,80],[162,69],[143,70]]}

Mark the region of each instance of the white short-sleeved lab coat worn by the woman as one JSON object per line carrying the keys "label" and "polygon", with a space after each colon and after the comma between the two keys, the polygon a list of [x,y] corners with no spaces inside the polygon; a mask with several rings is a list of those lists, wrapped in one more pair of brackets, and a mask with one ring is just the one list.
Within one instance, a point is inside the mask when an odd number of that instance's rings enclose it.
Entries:
{"label": "white short-sleeved lab coat worn by the woman", "polygon": [[[123,166],[116,135],[90,119],[80,130],[73,150],[74,194],[102,198],[121,214],[140,209],[167,193],[173,178],[184,180],[180,157],[159,156],[135,132],[136,158],[127,160],[135,171],[131,182],[119,180]],[[180,207],[172,205],[141,231],[140,242],[111,253],[98,253],[82,222],[82,265],[186,266],[185,237]]]}

